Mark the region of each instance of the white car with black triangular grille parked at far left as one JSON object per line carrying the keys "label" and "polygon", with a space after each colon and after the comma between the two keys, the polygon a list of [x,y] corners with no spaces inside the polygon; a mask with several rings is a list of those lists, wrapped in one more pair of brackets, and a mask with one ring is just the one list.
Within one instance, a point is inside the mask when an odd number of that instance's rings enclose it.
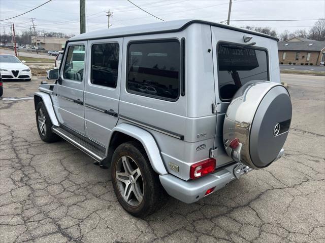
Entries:
{"label": "white car with black triangular grille parked at far left", "polygon": [[31,72],[25,61],[20,61],[14,55],[0,55],[0,73],[3,79],[31,80]]}

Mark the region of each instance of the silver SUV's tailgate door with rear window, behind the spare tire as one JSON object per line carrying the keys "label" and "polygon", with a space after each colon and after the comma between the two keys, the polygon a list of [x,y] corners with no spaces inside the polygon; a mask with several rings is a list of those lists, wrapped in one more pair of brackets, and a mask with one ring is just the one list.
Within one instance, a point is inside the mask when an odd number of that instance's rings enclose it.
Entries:
{"label": "silver SUV's tailgate door with rear window, behind the spare tire", "polygon": [[218,147],[218,165],[232,161],[223,146],[222,129],[226,110],[236,91],[251,80],[270,80],[269,54],[270,39],[251,35],[248,43],[242,46],[244,35],[240,31],[211,26],[214,63],[214,83],[217,102],[217,129],[214,147]]}

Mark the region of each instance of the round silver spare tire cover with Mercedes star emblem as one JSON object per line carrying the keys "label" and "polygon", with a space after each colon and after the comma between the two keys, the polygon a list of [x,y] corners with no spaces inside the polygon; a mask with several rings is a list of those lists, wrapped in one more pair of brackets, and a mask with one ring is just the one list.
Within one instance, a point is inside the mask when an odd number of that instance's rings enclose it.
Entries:
{"label": "round silver spare tire cover with Mercedes star emblem", "polygon": [[223,142],[234,160],[254,169],[276,160],[292,115],[288,91],[278,83],[251,81],[233,97],[223,123]]}

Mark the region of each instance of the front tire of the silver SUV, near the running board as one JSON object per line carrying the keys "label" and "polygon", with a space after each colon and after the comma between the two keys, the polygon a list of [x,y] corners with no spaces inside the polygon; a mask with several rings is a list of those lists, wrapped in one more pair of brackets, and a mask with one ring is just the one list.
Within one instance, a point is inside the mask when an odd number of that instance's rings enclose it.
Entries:
{"label": "front tire of the silver SUV, near the running board", "polygon": [[[45,117],[45,121],[44,121],[44,129],[40,128],[40,120],[39,120],[39,116],[42,116],[41,111],[43,112],[43,116]],[[43,103],[43,101],[39,102],[36,106],[36,124],[37,124],[37,130],[39,131],[39,135],[41,137],[41,139],[44,142],[47,143],[53,143],[56,141],[60,140],[60,137],[58,135],[56,135],[55,133],[52,132],[52,122],[51,119],[47,113],[46,107]]]}

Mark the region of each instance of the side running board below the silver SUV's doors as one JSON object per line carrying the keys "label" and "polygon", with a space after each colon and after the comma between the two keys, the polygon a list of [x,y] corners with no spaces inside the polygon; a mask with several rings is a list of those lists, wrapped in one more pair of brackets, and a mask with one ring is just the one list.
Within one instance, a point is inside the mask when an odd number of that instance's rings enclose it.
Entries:
{"label": "side running board below the silver SUV's doors", "polygon": [[71,134],[67,130],[64,130],[63,128],[60,127],[53,126],[52,131],[53,133],[59,135],[64,140],[67,140],[75,147],[79,148],[84,153],[88,154],[90,157],[98,161],[100,164],[106,158],[105,153],[103,151],[94,147],[87,141],[84,141],[83,139]]}

